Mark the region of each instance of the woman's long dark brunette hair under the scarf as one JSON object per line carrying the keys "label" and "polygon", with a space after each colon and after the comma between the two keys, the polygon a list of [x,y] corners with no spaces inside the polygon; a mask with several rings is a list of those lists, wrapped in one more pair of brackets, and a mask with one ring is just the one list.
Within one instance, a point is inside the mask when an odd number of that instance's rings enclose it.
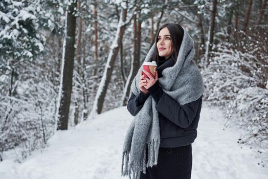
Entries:
{"label": "woman's long dark brunette hair under the scarf", "polygon": [[157,48],[159,32],[164,28],[167,28],[169,33],[170,33],[171,44],[172,44],[172,48],[173,48],[173,53],[171,54],[171,58],[174,60],[174,62],[176,62],[176,60],[177,60],[178,51],[180,51],[181,44],[182,44],[182,41],[183,41],[184,30],[183,30],[182,26],[180,26],[178,24],[175,24],[175,23],[163,24],[159,28],[158,33],[157,33],[157,35],[155,35],[155,39],[154,39],[154,41],[155,41],[155,52],[153,53],[152,58],[158,64],[159,64],[159,60],[165,60],[165,57],[159,56],[158,48]]}

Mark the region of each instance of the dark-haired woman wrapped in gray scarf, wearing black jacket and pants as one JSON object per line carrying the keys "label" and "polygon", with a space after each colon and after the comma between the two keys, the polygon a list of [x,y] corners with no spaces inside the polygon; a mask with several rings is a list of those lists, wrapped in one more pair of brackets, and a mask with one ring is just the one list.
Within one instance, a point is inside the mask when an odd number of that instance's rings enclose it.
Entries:
{"label": "dark-haired woman wrapped in gray scarf, wearing black jacket and pants", "polygon": [[204,93],[202,76],[192,60],[193,45],[180,25],[160,27],[144,60],[157,61],[155,78],[141,66],[131,84],[127,109],[135,118],[125,137],[122,175],[191,178],[191,144],[197,135]]}

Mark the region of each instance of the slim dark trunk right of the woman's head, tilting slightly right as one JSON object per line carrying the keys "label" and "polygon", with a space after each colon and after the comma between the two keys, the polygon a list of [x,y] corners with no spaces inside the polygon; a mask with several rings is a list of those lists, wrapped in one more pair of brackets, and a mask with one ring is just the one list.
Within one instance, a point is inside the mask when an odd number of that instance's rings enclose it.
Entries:
{"label": "slim dark trunk right of the woman's head, tilting slightly right", "polygon": [[[209,43],[207,47],[206,55],[207,57],[210,57],[210,52],[212,50],[212,44],[213,44],[213,37],[214,37],[214,27],[215,27],[215,17],[216,17],[216,11],[217,11],[217,0],[213,1],[213,8],[211,13],[211,24],[210,24],[210,30],[209,30]],[[209,59],[208,64],[210,63]]]}

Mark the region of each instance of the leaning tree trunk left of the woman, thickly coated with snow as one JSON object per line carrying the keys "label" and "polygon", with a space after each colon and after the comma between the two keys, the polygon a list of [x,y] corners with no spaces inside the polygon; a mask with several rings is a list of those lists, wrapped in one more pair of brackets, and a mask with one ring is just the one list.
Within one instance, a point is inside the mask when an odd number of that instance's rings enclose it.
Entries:
{"label": "leaning tree trunk left of the woman, thickly coated with snow", "polygon": [[125,31],[125,22],[126,22],[127,9],[122,9],[120,14],[120,20],[117,27],[116,37],[111,46],[108,59],[105,65],[104,73],[97,91],[97,95],[95,97],[95,101],[93,104],[93,108],[90,114],[90,118],[94,118],[96,114],[100,114],[102,111],[102,106],[104,103],[104,98],[106,95],[106,91],[110,82],[111,74],[114,69],[115,60],[118,55],[121,41],[123,38],[123,34]]}

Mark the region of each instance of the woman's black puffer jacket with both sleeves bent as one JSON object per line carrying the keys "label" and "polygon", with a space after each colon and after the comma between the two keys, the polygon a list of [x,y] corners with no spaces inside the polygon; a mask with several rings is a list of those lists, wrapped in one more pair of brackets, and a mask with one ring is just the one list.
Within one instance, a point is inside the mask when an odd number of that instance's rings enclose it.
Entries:
{"label": "woman's black puffer jacket with both sleeves bent", "polygon": [[[158,76],[162,77],[162,71],[174,64],[169,58],[159,66]],[[194,142],[197,136],[197,126],[202,107],[202,97],[188,104],[180,105],[163,92],[159,81],[155,82],[149,89],[148,94],[140,93],[135,96],[131,94],[127,109],[132,116],[136,116],[142,108],[149,95],[157,103],[160,124],[160,147],[186,146]]]}

